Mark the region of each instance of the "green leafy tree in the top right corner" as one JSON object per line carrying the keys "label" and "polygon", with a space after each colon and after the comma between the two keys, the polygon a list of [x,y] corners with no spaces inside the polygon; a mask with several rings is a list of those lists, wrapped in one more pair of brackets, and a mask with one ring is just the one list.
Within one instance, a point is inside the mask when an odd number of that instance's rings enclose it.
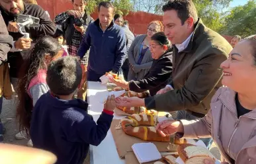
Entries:
{"label": "green leafy tree in the top right corner", "polygon": [[243,6],[232,8],[224,18],[222,34],[242,37],[256,33],[256,1],[250,0]]}

